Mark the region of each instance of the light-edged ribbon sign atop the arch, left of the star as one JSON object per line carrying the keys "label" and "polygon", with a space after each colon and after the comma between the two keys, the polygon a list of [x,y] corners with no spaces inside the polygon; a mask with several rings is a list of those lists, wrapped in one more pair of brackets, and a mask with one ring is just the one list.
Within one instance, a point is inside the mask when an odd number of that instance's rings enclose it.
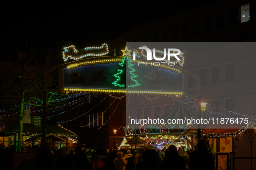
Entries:
{"label": "light-edged ribbon sign atop the arch, left of the star", "polygon": [[79,60],[87,56],[103,56],[108,54],[107,44],[102,44],[101,47],[86,47],[82,50],[76,50],[74,45],[64,48],[63,59],[68,60],[68,57],[74,60]]}

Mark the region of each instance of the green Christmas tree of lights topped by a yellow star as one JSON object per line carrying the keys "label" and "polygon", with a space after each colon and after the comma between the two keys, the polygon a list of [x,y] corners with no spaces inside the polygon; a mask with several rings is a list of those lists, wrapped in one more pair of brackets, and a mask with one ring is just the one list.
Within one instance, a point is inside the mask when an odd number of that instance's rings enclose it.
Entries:
{"label": "green Christmas tree of lights topped by a yellow star", "polygon": [[132,60],[129,58],[129,56],[131,56],[130,55],[131,50],[128,50],[128,48],[125,47],[125,49],[122,51],[123,51],[123,56],[125,56],[125,58],[122,60],[121,63],[119,63],[120,68],[117,69],[118,73],[114,74],[117,80],[112,84],[115,86],[118,85],[124,88],[126,88],[126,85],[128,86],[128,88],[139,86],[140,84],[138,83],[138,80],[135,80],[135,78],[138,76],[133,74],[133,72],[135,72],[136,70],[133,69],[134,65],[132,63]]}

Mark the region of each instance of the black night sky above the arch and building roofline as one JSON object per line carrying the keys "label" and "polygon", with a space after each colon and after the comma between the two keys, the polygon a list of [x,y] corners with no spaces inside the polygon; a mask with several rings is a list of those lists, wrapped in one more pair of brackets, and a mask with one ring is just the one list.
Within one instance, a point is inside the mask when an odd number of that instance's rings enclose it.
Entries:
{"label": "black night sky above the arch and building roofline", "polygon": [[[213,1],[213,0],[211,0]],[[53,2],[53,1],[52,1]],[[202,6],[210,1],[83,1],[69,3],[19,3],[2,6],[1,44],[13,35],[36,31],[61,46],[77,50],[109,43],[135,25]],[[15,34],[14,34],[15,33]],[[32,35],[33,36],[33,35]],[[47,40],[48,41],[48,40]],[[62,47],[63,48],[63,47]]]}

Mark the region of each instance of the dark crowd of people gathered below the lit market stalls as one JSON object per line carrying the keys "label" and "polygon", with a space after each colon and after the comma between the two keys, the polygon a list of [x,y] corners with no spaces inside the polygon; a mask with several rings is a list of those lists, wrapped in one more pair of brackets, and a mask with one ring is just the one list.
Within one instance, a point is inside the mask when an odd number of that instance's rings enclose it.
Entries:
{"label": "dark crowd of people gathered below the lit market stalls", "polygon": [[[213,156],[207,151],[204,140],[190,155],[190,170],[214,170]],[[77,145],[63,147],[56,152],[33,146],[26,150],[26,159],[17,170],[186,170],[185,160],[175,145],[158,151],[155,148],[134,147],[117,150],[98,145],[96,149]]]}

